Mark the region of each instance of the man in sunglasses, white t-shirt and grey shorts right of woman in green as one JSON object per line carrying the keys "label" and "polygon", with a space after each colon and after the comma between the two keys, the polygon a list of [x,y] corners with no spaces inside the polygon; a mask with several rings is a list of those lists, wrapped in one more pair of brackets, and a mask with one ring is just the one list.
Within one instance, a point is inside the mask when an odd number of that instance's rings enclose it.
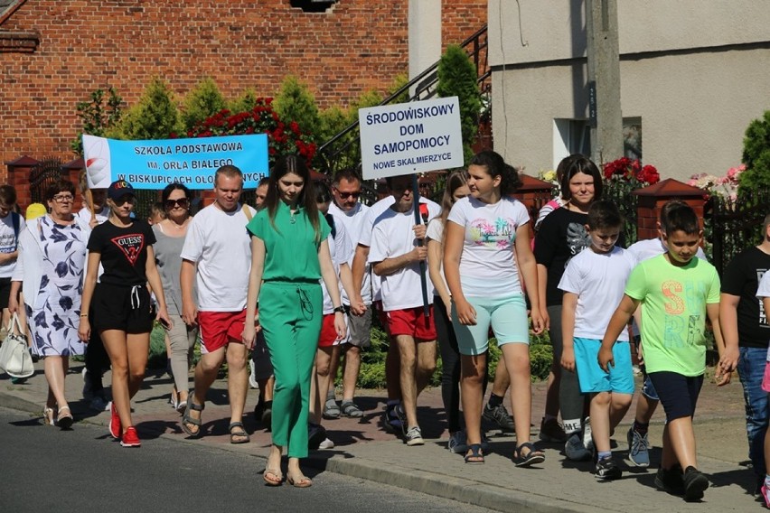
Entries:
{"label": "man in sunglasses, white t-shirt and grey shorts right of woman in green", "polygon": [[[332,182],[333,202],[329,205],[329,213],[334,219],[344,225],[348,237],[352,241],[358,241],[361,238],[364,218],[369,211],[369,207],[359,201],[361,197],[361,178],[352,170],[343,170],[334,175]],[[352,267],[353,257],[350,258],[348,265]],[[361,369],[361,351],[370,347],[371,331],[371,276],[369,265],[366,264],[362,275],[362,284],[360,288],[360,297],[349,298],[343,289],[343,303],[352,312],[348,317],[349,338],[342,345],[344,354],[343,363],[343,403],[337,406],[334,396],[334,387],[329,387],[329,393],[326,396],[324,406],[324,416],[327,418],[337,418],[340,415],[348,417],[361,417],[362,409],[355,404],[353,396],[355,395],[355,385],[358,381],[359,371]],[[351,308],[351,303],[358,303],[362,306]],[[361,310],[363,309],[363,312]],[[359,312],[355,314],[353,312]],[[337,375],[337,365],[339,359],[332,362],[331,376]]]}

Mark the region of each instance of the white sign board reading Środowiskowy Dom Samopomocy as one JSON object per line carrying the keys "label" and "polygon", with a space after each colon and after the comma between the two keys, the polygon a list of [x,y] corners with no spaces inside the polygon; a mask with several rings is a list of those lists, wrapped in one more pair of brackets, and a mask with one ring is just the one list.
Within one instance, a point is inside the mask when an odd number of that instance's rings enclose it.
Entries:
{"label": "white sign board reading \u015arodowiskowy Dom Samopomocy", "polygon": [[362,108],[358,119],[366,180],[465,163],[457,97]]}

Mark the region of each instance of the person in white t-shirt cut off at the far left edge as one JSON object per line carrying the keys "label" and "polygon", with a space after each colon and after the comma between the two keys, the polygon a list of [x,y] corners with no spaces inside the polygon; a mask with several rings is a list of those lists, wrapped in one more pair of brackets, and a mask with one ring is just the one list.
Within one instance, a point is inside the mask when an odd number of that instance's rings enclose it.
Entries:
{"label": "person in white t-shirt cut off at the far left edge", "polygon": [[11,297],[11,275],[19,255],[19,234],[24,227],[21,214],[14,212],[16,190],[10,185],[0,186],[0,309],[3,311],[3,327],[8,325],[11,314],[8,300]]}

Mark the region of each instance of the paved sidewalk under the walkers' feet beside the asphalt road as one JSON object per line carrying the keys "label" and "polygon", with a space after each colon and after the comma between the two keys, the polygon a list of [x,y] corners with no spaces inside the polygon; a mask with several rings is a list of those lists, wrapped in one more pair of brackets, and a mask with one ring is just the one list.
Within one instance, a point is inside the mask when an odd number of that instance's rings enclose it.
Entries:
{"label": "paved sidewalk under the walkers' feet beside the asphalt road", "polygon": [[[104,425],[107,435],[108,412],[89,411],[88,403],[81,398],[81,368],[82,364],[73,362],[67,378],[67,395],[73,415],[79,422]],[[35,375],[21,385],[11,384],[6,375],[0,378],[0,406],[39,416],[42,423],[42,406],[47,394],[42,362],[36,364],[36,369]],[[109,383],[109,374],[105,376],[105,383]],[[150,374],[134,400],[136,428],[146,442],[143,451],[151,450],[152,440],[163,436],[180,443],[205,444],[257,456],[260,462],[255,464],[255,473],[262,471],[270,435],[251,415],[257,400],[256,390],[249,390],[244,417],[251,443],[231,445],[227,433],[230,409],[224,380],[217,380],[211,387],[209,402],[203,412],[206,435],[198,440],[188,439],[180,429],[180,415],[167,402],[171,386],[171,378],[167,375]],[[540,425],[544,397],[545,384],[534,384],[533,424]],[[446,451],[448,435],[444,429],[441,391],[437,388],[428,389],[419,399],[418,416],[426,437],[424,446],[408,447],[381,429],[379,419],[385,403],[384,391],[362,390],[357,402],[364,409],[361,419],[324,421],[328,436],[336,447],[330,451],[311,452],[304,463],[311,477],[321,471],[333,471],[501,511],[528,508],[531,511],[649,513],[653,510],[703,511],[704,508],[750,511],[763,507],[751,495],[754,479],[746,467],[743,396],[737,377],[734,383],[722,388],[707,380],[700,396],[695,427],[699,465],[711,480],[704,504],[686,503],[654,487],[655,469],[660,461],[662,412],[655,415],[650,428],[650,441],[654,446],[651,468],[629,466],[626,460],[624,479],[599,482],[592,473],[591,463],[568,462],[560,452],[561,447],[554,444],[540,444],[546,451],[544,464],[532,469],[514,467],[510,459],[515,446],[512,435],[492,433],[493,453],[487,456],[486,463],[465,465],[461,455]],[[625,434],[632,419],[632,413],[626,415],[624,425],[615,434],[617,458],[627,455]],[[78,424],[73,428],[77,429]],[[537,440],[538,428],[533,427],[532,431],[533,439]],[[108,436],[106,438],[99,443],[112,443]],[[116,451],[122,450],[117,443],[115,446]],[[255,480],[255,483],[261,484],[261,480]]]}

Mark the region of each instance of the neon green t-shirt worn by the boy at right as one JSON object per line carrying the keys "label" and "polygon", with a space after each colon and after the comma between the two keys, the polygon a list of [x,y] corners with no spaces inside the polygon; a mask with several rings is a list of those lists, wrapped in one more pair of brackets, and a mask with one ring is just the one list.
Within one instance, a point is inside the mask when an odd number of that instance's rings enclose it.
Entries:
{"label": "neon green t-shirt worn by the boy at right", "polygon": [[706,370],[706,304],[719,303],[717,269],[700,258],[673,266],[664,255],[634,267],[625,294],[642,302],[647,372],[700,376]]}

